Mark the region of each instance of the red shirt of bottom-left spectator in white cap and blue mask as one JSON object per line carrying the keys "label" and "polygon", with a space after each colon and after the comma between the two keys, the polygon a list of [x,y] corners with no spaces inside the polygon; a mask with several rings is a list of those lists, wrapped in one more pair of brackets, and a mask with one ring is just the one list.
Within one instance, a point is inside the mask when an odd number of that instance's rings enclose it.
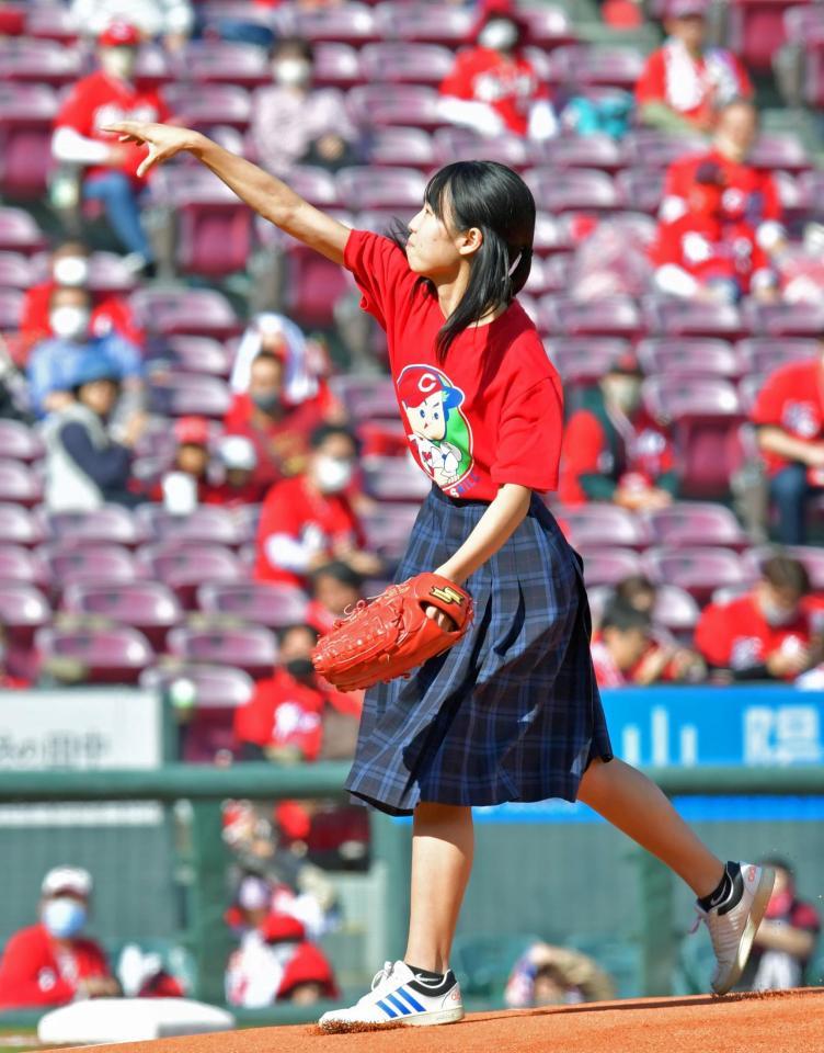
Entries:
{"label": "red shirt of bottom-left spectator in white cap and blue mask", "polygon": [[77,994],[78,983],[111,976],[106,955],[93,940],[73,940],[66,951],[43,925],[15,932],[0,961],[0,1008],[57,1006]]}

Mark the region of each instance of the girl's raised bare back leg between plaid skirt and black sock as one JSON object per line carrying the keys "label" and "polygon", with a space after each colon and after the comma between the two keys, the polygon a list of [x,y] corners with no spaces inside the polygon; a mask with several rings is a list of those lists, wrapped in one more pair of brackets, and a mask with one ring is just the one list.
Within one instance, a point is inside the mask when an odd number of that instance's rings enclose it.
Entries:
{"label": "girl's raised bare back leg between plaid skirt and black sock", "polygon": [[640,771],[622,760],[594,760],[581,780],[579,799],[671,867],[696,896],[718,886],[724,864]]}

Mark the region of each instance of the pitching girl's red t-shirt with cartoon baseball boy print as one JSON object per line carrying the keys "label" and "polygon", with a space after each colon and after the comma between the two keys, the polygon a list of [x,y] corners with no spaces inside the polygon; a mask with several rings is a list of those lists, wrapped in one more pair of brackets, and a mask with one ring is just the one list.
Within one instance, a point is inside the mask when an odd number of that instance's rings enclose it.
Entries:
{"label": "pitching girl's red t-shirt with cartoon baseball boy print", "polygon": [[516,302],[467,329],[437,362],[437,297],[388,238],[353,230],[344,263],[360,306],[386,329],[412,454],[451,497],[491,501],[504,483],[558,485],[563,395],[534,324]]}

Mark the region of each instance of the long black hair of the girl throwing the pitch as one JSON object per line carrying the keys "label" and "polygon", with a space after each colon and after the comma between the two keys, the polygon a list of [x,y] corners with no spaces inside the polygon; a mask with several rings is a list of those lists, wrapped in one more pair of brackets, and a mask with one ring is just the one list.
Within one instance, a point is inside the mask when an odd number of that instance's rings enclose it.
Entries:
{"label": "long black hair of the girl throwing the pitch", "polygon": [[[456,161],[432,177],[424,201],[449,229],[478,227],[483,235],[472,256],[467,291],[437,336],[437,359],[443,362],[466,328],[508,306],[526,284],[533,265],[535,199],[524,180],[505,165]],[[401,247],[407,237],[405,230],[394,231]],[[428,279],[423,281],[432,285]]]}

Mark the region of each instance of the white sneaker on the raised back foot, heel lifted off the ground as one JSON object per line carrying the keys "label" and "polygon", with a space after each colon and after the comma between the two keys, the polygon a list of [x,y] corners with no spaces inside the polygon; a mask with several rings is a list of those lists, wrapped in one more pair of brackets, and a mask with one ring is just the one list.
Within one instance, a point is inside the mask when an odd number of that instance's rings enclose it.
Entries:
{"label": "white sneaker on the raised back foot, heel lifted off the ground", "polygon": [[741,978],[775,880],[776,873],[769,867],[739,863],[732,896],[709,910],[696,906],[698,920],[695,928],[701,921],[706,924],[718,960],[710,981],[713,994],[725,995]]}

